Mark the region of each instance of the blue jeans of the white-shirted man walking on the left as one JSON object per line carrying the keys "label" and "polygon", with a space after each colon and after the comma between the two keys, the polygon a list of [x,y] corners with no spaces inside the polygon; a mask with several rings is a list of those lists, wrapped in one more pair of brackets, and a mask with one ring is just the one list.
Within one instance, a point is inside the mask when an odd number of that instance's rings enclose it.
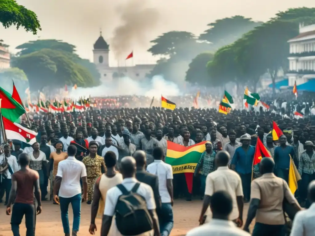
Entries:
{"label": "blue jeans of the white-shirted man walking on the left", "polygon": [[69,208],[70,203],[72,205],[72,211],[73,211],[72,231],[79,231],[80,219],[81,219],[81,200],[82,200],[81,193],[71,198],[59,197],[61,221],[62,221],[64,233],[70,233],[69,216],[68,216],[68,208]]}

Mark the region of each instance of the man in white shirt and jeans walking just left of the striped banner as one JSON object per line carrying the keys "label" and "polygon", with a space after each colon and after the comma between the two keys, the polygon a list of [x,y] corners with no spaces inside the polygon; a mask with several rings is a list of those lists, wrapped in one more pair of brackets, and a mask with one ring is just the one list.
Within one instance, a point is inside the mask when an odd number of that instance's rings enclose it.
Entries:
{"label": "man in white shirt and jeans walking just left of the striped banner", "polygon": [[174,226],[173,220],[173,169],[172,166],[163,162],[163,148],[153,149],[154,161],[147,166],[146,170],[158,177],[159,193],[162,200],[161,211],[158,212],[160,232],[162,236],[169,236]]}

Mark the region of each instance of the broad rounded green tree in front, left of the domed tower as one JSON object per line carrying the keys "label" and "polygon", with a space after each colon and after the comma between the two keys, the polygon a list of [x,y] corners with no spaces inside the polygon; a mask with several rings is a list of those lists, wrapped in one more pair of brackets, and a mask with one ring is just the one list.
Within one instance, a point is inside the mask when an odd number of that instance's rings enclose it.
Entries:
{"label": "broad rounded green tree in front, left of the domed tower", "polygon": [[26,73],[33,91],[43,87],[60,88],[77,84],[78,87],[98,85],[89,70],[74,62],[66,52],[42,49],[17,57],[14,65]]}

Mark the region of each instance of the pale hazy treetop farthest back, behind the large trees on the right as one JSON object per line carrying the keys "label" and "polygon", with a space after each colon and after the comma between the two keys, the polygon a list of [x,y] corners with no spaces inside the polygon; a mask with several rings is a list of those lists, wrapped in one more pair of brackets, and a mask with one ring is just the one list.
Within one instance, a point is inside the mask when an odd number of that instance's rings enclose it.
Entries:
{"label": "pale hazy treetop farthest back, behind the large trees on the right", "polygon": [[210,28],[199,36],[199,40],[211,42],[214,48],[218,49],[235,42],[243,34],[261,24],[262,22],[255,22],[240,15],[216,20],[208,24]]}

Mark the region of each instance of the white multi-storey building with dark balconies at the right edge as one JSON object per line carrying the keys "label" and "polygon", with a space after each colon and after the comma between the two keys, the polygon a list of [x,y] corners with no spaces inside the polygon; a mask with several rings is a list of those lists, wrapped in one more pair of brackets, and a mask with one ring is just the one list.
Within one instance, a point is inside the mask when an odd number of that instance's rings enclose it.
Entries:
{"label": "white multi-storey building with dark balconies at the right edge", "polygon": [[315,79],[315,25],[301,25],[299,35],[290,39],[289,86]]}

